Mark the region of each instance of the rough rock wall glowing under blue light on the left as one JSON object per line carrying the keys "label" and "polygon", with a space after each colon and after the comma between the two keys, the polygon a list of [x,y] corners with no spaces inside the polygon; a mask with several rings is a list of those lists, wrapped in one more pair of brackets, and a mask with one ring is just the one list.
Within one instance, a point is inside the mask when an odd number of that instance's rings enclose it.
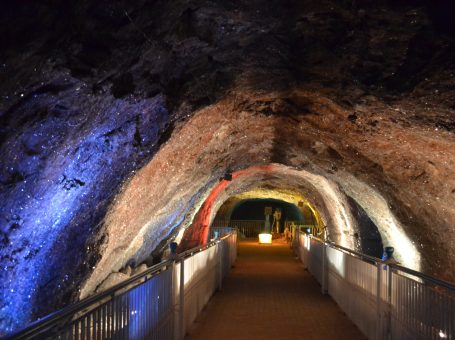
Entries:
{"label": "rough rock wall glowing under blue light on the left", "polygon": [[75,299],[109,203],[168,124],[160,96],[94,95],[70,77],[17,98],[0,112],[0,334]]}

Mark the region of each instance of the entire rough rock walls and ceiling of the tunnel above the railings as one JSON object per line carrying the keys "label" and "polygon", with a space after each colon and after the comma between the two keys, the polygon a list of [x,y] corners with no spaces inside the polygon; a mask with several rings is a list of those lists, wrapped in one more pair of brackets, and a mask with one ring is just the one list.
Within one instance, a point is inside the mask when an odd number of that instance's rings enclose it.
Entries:
{"label": "entire rough rock walls and ceiling of the tunnel above the railings", "polygon": [[204,244],[258,200],[455,281],[453,12],[3,3],[0,334],[160,261],[172,241]]}

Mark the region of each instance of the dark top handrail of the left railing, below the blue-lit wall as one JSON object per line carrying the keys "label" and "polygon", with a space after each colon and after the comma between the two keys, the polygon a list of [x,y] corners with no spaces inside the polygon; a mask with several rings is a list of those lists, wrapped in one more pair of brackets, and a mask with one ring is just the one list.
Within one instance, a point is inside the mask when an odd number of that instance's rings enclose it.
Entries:
{"label": "dark top handrail of the left railing, below the blue-lit wall", "polygon": [[[134,275],[134,276],[130,277],[129,279],[122,281],[119,284],[117,284],[101,293],[89,296],[83,300],[80,300],[80,301],[70,304],[66,307],[63,307],[62,309],[55,311],[51,314],[48,314],[45,317],[32,322],[27,327],[13,333],[13,334],[6,335],[6,337],[2,337],[1,339],[2,340],[26,339],[27,337],[30,337],[32,335],[40,334],[41,332],[49,329],[49,327],[52,325],[56,325],[60,322],[68,321],[68,317],[73,316],[78,312],[84,311],[86,308],[92,306],[93,304],[103,301],[104,299],[106,299],[108,297],[115,296],[116,293],[118,293],[119,291],[121,291],[121,293],[123,294],[123,293],[137,287],[140,283],[142,283],[142,282],[138,282],[139,280],[142,280],[144,278],[147,280],[147,278],[151,278],[151,277],[161,273],[163,270],[166,270],[167,267],[170,266],[173,262],[180,262],[195,253],[199,253],[210,247],[213,247],[218,242],[224,240],[225,238],[228,238],[230,235],[231,235],[231,233],[229,233],[221,238],[218,238],[210,243],[207,243],[204,246],[197,246],[197,247],[191,248],[189,250],[186,250],[186,251],[178,254],[176,259],[162,261],[162,262],[148,268],[147,270],[145,270],[137,275]],[[129,287],[130,285],[132,285],[134,283],[137,283],[137,285],[134,285],[133,287]],[[126,287],[128,287],[129,289],[124,290]],[[104,302],[107,302],[107,301],[104,301]]]}

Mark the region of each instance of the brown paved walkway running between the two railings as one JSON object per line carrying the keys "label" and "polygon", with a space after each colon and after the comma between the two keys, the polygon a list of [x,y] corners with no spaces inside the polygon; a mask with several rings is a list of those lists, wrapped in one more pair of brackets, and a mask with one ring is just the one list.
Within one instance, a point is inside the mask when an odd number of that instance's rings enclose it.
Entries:
{"label": "brown paved walkway running between the two railings", "polygon": [[289,246],[239,243],[235,267],[186,339],[365,339]]}

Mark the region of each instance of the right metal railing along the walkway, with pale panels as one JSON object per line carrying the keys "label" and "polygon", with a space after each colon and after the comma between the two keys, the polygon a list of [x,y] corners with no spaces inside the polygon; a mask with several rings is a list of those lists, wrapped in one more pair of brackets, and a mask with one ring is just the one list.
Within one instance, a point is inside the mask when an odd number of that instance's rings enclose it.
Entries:
{"label": "right metal railing along the walkway, with pale panels", "polygon": [[455,339],[455,285],[302,233],[294,249],[369,339]]}

